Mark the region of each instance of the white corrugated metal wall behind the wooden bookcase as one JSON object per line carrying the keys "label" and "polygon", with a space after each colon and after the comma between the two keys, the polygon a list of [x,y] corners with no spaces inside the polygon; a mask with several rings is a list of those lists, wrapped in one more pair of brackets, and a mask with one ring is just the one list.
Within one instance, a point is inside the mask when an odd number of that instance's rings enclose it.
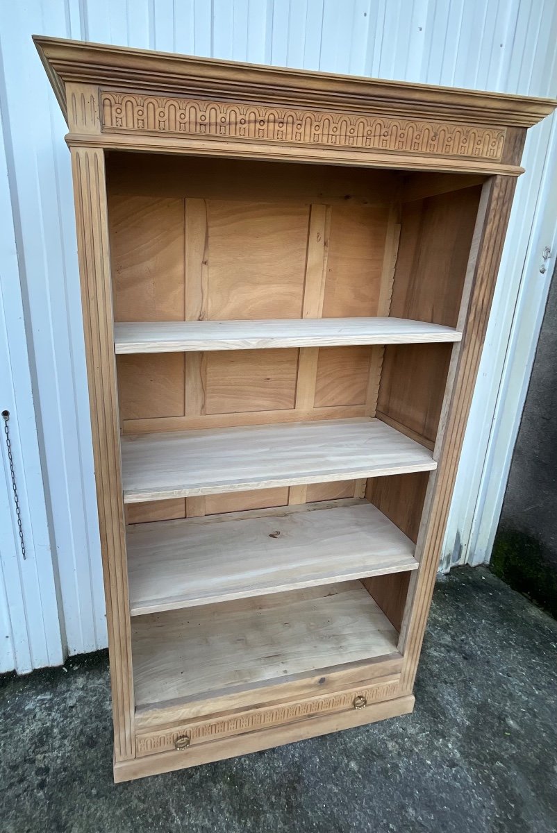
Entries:
{"label": "white corrugated metal wall behind the wooden bookcase", "polygon": [[[106,645],[66,127],[31,35],[555,96],[557,4],[0,0],[0,5],[0,325],[6,325],[6,332],[0,327],[0,410],[13,413],[28,542],[23,561],[3,447],[0,670],[28,671],[56,664],[66,651]],[[528,174],[519,182],[505,247],[465,442],[464,475],[459,475],[445,544],[447,563],[464,559],[477,514],[504,360],[520,292],[524,295],[524,265],[536,254],[533,232],[540,187],[550,173],[551,127],[547,120],[534,128],[524,155]],[[543,307],[546,284],[544,279],[537,285],[538,307]],[[535,327],[530,330],[534,343]],[[521,367],[526,377],[530,354],[531,344]]]}

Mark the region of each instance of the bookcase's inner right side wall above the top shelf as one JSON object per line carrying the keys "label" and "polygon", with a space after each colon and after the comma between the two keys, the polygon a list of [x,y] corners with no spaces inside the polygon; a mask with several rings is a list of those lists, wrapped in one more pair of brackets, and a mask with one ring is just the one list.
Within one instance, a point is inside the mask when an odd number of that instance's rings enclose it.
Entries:
{"label": "bookcase's inner right side wall above the top shelf", "polygon": [[390,314],[456,327],[479,186],[403,206]]}

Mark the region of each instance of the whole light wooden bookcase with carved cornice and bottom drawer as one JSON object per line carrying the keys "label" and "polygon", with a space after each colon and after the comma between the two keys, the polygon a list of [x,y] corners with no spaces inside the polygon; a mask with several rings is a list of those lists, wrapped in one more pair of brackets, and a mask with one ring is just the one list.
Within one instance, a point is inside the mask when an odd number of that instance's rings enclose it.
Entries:
{"label": "whole light wooden bookcase with carved cornice and bottom drawer", "polygon": [[115,779],[412,711],[554,102],[35,40],[73,160]]}

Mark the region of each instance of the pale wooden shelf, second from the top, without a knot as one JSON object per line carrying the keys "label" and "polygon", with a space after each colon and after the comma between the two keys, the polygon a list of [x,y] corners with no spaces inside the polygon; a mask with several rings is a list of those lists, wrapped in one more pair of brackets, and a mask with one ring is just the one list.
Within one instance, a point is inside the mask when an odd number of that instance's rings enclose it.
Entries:
{"label": "pale wooden shelf, second from the top, without a knot", "polygon": [[122,437],[125,503],[429,471],[436,465],[428,448],[370,417]]}

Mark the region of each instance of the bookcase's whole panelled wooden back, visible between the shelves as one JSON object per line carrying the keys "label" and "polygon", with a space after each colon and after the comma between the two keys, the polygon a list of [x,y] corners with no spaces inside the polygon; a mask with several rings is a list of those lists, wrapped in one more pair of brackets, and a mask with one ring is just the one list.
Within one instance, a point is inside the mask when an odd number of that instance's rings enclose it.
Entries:
{"label": "bookcase's whole panelled wooden back, visible between the shelves", "polygon": [[[387,314],[398,177],[109,153],[116,321]],[[391,252],[391,255],[393,253]],[[389,270],[390,267],[390,270]],[[386,276],[386,278],[385,278]],[[381,347],[118,356],[124,433],[373,415]],[[372,382],[370,382],[370,379]],[[128,506],[128,522],[354,496],[354,481]]]}

